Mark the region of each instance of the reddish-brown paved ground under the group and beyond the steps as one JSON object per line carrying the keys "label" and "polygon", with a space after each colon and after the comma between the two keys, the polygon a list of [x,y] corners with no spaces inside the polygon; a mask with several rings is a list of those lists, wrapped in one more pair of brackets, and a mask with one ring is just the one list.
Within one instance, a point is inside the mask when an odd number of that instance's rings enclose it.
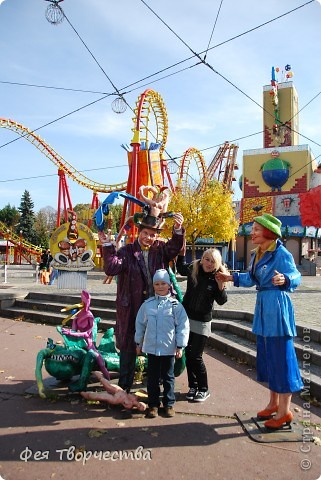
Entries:
{"label": "reddish-brown paved ground under the group and beyond the steps", "polygon": [[[311,282],[311,283],[310,283]],[[312,283],[314,282],[314,283]],[[297,311],[305,303],[319,314],[321,279],[303,282]],[[183,284],[182,284],[183,285]],[[93,295],[112,296],[115,283],[89,280]],[[15,285],[15,290],[29,285]],[[32,289],[56,291],[43,285]],[[317,290],[318,293],[314,293]],[[73,292],[73,291],[72,291]],[[60,291],[71,293],[68,291]],[[74,292],[73,292],[74,293]],[[229,292],[229,308],[253,311],[255,294]],[[317,296],[318,295],[318,298]],[[242,303],[243,302],[243,303]],[[302,307],[302,311],[305,311]],[[308,316],[304,321],[310,321]],[[255,371],[215,350],[207,349],[211,397],[203,404],[187,402],[185,372],[176,380],[176,416],[147,419],[125,415],[119,408],[88,404],[66,388],[46,400],[36,392],[37,352],[55,328],[0,318],[0,476],[5,480],[65,480],[154,478],[219,480],[316,480],[321,475],[321,409],[294,395],[292,410],[302,427],[297,442],[251,440],[235,412],[255,412],[265,406],[267,390],[255,381]],[[44,377],[48,375],[44,372]],[[31,389],[31,390],[30,390]],[[26,393],[29,392],[29,393]],[[110,453],[111,452],[111,453]],[[129,458],[124,458],[124,456]],[[121,458],[123,457],[123,458]]]}

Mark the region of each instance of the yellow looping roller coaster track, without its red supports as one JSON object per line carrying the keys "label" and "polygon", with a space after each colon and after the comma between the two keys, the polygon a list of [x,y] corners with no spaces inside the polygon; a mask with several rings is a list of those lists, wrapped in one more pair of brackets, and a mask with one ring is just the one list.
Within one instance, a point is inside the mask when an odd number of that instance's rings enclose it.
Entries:
{"label": "yellow looping roller coaster track, without its red supports", "polygon": [[[153,90],[146,90],[137,101],[135,118],[133,118],[134,127],[132,130],[134,132],[134,137],[135,132],[138,133],[137,138],[139,138],[139,143],[140,141],[145,142],[147,148],[149,146],[149,121],[151,113],[153,113],[152,117],[154,117],[156,125],[156,135],[154,136],[154,141],[156,143],[160,143],[161,145],[160,157],[162,159],[168,135],[166,107],[162,97],[157,92]],[[59,155],[49,144],[47,144],[39,135],[35,134],[32,130],[25,127],[21,123],[6,118],[0,118],[0,127],[9,129],[20,135],[20,137],[28,140],[56,167],[58,167],[59,171],[64,172],[73,181],[93,191],[94,193],[111,193],[127,190],[128,182],[107,185],[90,180],[88,177],[76,170],[76,168],[73,167],[69,162],[64,160],[64,158]],[[232,182],[235,180],[234,170],[238,168],[236,164],[237,150],[238,146],[225,142],[225,144],[218,149],[209,167],[206,168],[204,158],[200,151],[196,148],[189,148],[184,153],[180,163],[178,174],[179,188],[184,190],[188,187],[188,184],[190,183],[188,171],[191,162],[194,161],[196,163],[199,175],[199,184],[197,187],[198,190],[202,189],[208,181],[213,180],[214,178],[216,178],[219,182],[224,183],[228,189],[231,189]],[[163,163],[166,162],[163,160]],[[5,232],[6,231],[7,227],[5,226]],[[32,247],[35,246],[30,244],[29,248]],[[38,247],[35,248],[37,249]]]}

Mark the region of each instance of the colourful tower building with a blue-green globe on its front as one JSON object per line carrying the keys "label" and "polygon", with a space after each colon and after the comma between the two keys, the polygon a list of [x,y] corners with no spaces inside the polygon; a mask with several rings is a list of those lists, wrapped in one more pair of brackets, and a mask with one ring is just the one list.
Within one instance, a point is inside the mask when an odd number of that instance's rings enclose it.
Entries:
{"label": "colourful tower building with a blue-green globe on its front", "polygon": [[247,264],[253,248],[248,241],[253,218],[271,213],[282,221],[283,240],[299,264],[308,255],[311,238],[318,236],[315,221],[304,215],[305,195],[315,181],[317,164],[309,145],[299,144],[294,84],[278,83],[273,70],[271,85],[263,87],[263,132],[263,148],[243,152],[237,256]]}

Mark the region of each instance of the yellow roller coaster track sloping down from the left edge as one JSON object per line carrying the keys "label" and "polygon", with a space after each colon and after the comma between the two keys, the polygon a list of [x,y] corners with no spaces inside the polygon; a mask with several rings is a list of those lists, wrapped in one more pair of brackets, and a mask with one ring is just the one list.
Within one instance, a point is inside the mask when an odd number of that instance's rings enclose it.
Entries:
{"label": "yellow roller coaster track sloping down from the left edge", "polygon": [[50,145],[48,145],[39,135],[36,135],[32,130],[25,127],[21,123],[6,118],[0,118],[0,127],[7,128],[22,138],[32,143],[41,153],[43,153],[59,170],[63,171],[68,177],[79,183],[85,188],[92,190],[95,193],[110,193],[122,192],[126,190],[127,182],[117,183],[115,185],[106,185],[90,180],[82,173],[78,172],[70,163],[59,155]]}

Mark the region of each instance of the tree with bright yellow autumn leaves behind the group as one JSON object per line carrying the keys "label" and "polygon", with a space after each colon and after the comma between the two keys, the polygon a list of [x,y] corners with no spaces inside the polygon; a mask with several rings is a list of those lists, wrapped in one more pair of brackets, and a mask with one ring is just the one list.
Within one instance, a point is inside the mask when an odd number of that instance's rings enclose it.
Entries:
{"label": "tree with bright yellow autumn leaves behind the group", "polygon": [[[196,258],[198,238],[214,238],[215,242],[229,242],[235,238],[238,222],[232,205],[232,193],[217,180],[198,189],[177,188],[172,194],[168,211],[181,212],[184,216],[186,242],[192,246],[192,258]],[[170,236],[169,225],[164,236]]]}

